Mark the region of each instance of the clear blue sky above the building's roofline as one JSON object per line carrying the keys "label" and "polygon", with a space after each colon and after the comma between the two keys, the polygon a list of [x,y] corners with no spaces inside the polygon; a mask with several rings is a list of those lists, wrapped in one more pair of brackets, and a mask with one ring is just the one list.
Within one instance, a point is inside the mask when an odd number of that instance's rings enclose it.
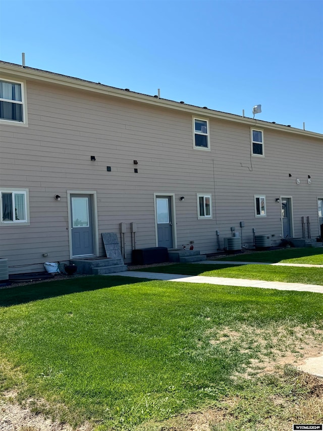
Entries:
{"label": "clear blue sky above the building's roofline", "polygon": [[0,59],[323,133],[322,0],[0,0]]}

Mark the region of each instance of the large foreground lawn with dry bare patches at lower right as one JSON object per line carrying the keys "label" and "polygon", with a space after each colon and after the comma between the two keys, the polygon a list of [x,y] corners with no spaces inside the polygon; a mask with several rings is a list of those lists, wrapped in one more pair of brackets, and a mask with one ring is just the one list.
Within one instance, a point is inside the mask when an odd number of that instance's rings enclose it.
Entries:
{"label": "large foreground lawn with dry bare patches at lower right", "polygon": [[0,389],[97,431],[189,429],[178,415],[197,410],[217,412],[214,431],[322,423],[316,381],[293,369],[257,377],[321,346],[322,316],[319,294],[130,277],[2,290]]}

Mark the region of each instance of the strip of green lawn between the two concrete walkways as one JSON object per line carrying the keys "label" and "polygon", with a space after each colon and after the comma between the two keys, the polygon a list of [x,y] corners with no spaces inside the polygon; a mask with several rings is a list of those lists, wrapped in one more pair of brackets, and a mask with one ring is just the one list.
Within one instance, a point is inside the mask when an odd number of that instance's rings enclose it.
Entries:
{"label": "strip of green lawn between the two concrete walkways", "polygon": [[174,265],[138,269],[138,271],[323,285],[323,268],[270,265],[230,265],[225,263],[223,265],[176,263]]}

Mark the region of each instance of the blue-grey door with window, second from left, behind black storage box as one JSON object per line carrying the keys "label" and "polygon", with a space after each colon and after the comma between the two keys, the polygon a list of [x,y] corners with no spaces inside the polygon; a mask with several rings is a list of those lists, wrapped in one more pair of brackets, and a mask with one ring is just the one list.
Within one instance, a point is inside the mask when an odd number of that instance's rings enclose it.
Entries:
{"label": "blue-grey door with window, second from left, behind black storage box", "polygon": [[171,196],[156,196],[158,247],[173,248],[173,212]]}

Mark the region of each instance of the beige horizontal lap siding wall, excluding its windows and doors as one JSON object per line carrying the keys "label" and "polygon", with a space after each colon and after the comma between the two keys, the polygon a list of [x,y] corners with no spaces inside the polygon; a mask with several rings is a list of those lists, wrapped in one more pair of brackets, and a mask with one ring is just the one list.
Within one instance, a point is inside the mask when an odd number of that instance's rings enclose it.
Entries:
{"label": "beige horizontal lap siding wall, excluding its windows and doors", "polygon": [[[27,80],[25,90],[28,127],[0,124],[0,185],[29,190],[30,224],[0,226],[1,256],[8,258],[10,273],[70,259],[71,190],[96,193],[100,256],[101,233],[120,235],[119,224],[126,223],[126,261],[131,222],[137,223],[136,248],[156,246],[154,194],[174,194],[178,248],[194,241],[201,253],[214,253],[216,230],[223,247],[231,226],[241,232],[240,221],[244,244],[252,245],[253,228],[256,234],[275,235],[273,242],[279,243],[281,207],[275,199],[282,196],[292,197],[294,236],[302,236],[302,216],[310,217],[312,237],[319,233],[319,138],[266,129],[258,122],[265,157],[251,157],[250,126],[209,118],[205,111],[210,151],[201,151],[193,148],[193,113],[36,80]],[[211,195],[211,219],[197,218],[197,194]],[[254,195],[265,195],[266,217],[255,217]]]}

